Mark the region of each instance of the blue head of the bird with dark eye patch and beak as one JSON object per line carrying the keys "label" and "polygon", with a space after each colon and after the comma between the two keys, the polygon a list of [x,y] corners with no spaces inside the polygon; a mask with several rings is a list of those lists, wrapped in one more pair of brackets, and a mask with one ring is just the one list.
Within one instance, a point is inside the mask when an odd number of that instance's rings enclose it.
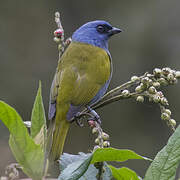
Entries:
{"label": "blue head of the bird with dark eye patch and beak", "polygon": [[98,46],[108,51],[108,39],[121,31],[106,21],[91,21],[78,28],[73,33],[72,40]]}

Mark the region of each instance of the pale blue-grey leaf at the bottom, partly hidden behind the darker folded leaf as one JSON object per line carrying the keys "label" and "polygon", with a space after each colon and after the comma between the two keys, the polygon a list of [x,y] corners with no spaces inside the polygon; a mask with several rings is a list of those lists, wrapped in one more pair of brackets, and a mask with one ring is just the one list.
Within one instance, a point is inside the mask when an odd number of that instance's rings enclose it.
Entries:
{"label": "pale blue-grey leaf at the bottom, partly hidden behind the darker folded leaf", "polygon": [[[69,164],[76,163],[80,160],[85,161],[91,154],[84,154],[84,153],[79,153],[79,155],[72,155],[72,154],[67,154],[64,153],[61,156],[60,160],[60,169],[63,171],[67,167],[69,168]],[[112,173],[110,168],[107,166],[107,163],[104,162],[104,173],[103,173],[103,180],[110,180],[112,179]],[[68,170],[68,169],[67,169]],[[94,167],[93,164],[89,164],[89,167],[87,171],[82,174],[82,176],[79,178],[79,180],[97,180],[96,175],[98,173],[98,170]]]}

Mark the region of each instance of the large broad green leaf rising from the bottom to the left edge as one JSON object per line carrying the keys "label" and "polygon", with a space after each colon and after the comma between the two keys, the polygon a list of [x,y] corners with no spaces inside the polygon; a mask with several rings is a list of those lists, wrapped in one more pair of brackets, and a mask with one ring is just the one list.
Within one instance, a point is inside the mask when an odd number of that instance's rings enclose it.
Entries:
{"label": "large broad green leaf rising from the bottom to the left edge", "polygon": [[0,101],[0,119],[10,131],[9,144],[23,171],[34,180],[42,179],[43,151],[30,137],[20,115],[8,104]]}

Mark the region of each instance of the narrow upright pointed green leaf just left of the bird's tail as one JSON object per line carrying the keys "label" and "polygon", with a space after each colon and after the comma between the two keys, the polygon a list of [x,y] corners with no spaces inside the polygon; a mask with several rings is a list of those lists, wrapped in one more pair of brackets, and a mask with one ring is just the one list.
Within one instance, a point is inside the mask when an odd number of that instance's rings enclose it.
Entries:
{"label": "narrow upright pointed green leaf just left of the bird's tail", "polygon": [[44,144],[44,135],[46,135],[46,117],[41,95],[41,82],[39,82],[39,88],[31,115],[31,136],[32,138],[35,138],[36,143]]}

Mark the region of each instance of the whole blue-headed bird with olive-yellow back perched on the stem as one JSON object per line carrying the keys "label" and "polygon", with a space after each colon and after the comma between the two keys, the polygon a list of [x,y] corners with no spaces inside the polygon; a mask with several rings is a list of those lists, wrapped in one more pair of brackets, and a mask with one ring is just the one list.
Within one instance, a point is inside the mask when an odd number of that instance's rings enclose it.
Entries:
{"label": "whole blue-headed bird with olive-yellow back perched on the stem", "polygon": [[60,158],[70,120],[84,106],[100,100],[112,76],[108,39],[121,32],[106,21],[84,24],[59,59],[50,92],[52,144],[49,158]]}

